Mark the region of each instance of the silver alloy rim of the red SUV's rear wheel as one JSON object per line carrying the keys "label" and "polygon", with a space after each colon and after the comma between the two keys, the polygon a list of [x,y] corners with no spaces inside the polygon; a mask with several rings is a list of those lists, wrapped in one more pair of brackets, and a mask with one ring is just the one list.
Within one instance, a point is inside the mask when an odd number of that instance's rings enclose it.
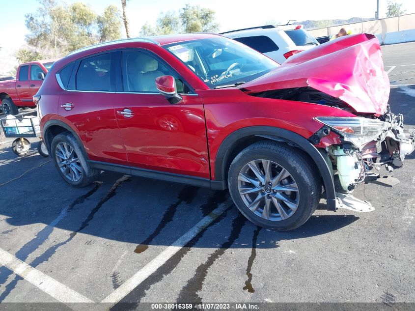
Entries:
{"label": "silver alloy rim of the red SUV's rear wheel", "polygon": [[60,171],[67,179],[74,182],[81,179],[81,161],[70,144],[59,142],[55,148],[55,158]]}

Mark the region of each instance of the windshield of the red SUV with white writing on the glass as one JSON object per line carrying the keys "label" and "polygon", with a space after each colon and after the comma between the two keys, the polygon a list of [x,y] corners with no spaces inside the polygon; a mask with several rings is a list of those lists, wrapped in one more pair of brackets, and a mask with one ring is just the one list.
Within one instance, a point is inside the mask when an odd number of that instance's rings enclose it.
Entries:
{"label": "windshield of the red SUV with white writing on the glass", "polygon": [[248,82],[279,66],[246,45],[219,36],[173,43],[165,48],[211,88]]}

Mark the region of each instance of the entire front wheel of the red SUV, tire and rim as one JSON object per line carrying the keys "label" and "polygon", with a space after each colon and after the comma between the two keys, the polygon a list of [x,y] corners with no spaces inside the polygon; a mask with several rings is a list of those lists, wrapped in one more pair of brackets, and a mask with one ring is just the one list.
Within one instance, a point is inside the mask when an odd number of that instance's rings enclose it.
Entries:
{"label": "entire front wheel of the red SUV, tire and rim", "polygon": [[295,148],[259,141],[230,165],[229,192],[255,225],[292,230],[303,225],[318,205],[321,183],[313,172]]}

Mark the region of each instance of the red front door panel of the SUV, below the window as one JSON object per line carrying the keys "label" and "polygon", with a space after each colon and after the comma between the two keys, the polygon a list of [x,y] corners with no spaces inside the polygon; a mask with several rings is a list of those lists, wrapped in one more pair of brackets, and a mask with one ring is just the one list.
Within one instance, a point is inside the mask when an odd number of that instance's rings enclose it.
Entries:
{"label": "red front door panel of the SUV, below the window", "polygon": [[[203,105],[196,95],[170,104],[160,94],[116,94],[116,116],[132,167],[210,178]],[[130,109],[133,117],[118,112]]]}

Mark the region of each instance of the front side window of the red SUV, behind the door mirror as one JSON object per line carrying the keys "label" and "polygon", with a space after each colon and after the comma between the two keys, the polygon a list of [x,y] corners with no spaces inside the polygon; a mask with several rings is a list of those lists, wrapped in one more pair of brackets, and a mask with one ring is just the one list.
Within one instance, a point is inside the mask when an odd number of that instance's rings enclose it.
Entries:
{"label": "front side window of the red SUV, behind the door mirror", "polygon": [[187,85],[157,57],[140,51],[122,52],[122,81],[126,92],[157,93],[156,78],[173,76],[178,93],[189,93]]}

